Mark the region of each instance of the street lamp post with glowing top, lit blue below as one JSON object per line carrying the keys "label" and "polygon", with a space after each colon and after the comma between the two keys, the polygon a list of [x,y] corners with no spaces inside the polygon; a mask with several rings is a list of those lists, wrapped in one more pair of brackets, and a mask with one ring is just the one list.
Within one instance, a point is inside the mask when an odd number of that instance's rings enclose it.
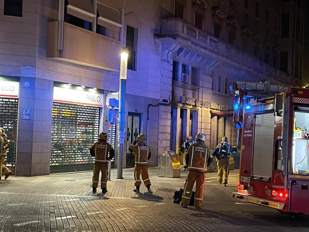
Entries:
{"label": "street lamp post with glowing top, lit blue below", "polygon": [[125,140],[125,87],[127,81],[128,49],[121,49],[119,84],[119,120],[118,120],[118,159],[117,178],[122,179],[123,144]]}

